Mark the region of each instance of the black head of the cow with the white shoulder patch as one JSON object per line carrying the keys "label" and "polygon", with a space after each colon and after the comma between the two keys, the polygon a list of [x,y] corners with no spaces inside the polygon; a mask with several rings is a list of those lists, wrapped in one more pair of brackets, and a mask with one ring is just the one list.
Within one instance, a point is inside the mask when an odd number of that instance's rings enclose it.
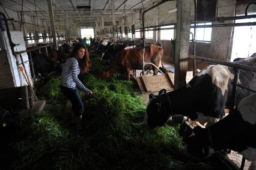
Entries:
{"label": "black head of the cow with the white shoulder patch", "polygon": [[166,90],[159,91],[158,96],[149,95],[147,112],[144,117],[144,123],[150,127],[163,126],[171,115],[169,94]]}

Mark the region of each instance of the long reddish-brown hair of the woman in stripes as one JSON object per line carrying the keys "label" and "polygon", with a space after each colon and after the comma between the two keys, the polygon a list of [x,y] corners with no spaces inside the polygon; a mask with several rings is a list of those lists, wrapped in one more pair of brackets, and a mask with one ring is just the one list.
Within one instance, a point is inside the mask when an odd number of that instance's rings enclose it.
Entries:
{"label": "long reddish-brown hair of the woman in stripes", "polygon": [[89,70],[89,68],[91,67],[91,61],[90,61],[90,58],[89,58],[89,52],[88,52],[88,49],[87,47],[84,46],[84,44],[82,43],[77,43],[75,44],[71,54],[70,54],[70,57],[75,57],[76,58],[76,55],[78,53],[78,50],[79,49],[85,49],[85,55],[83,58],[77,58],[78,59],[78,63],[79,63],[79,67],[81,69],[81,72],[84,74],[84,73],[87,73],[87,71]]}

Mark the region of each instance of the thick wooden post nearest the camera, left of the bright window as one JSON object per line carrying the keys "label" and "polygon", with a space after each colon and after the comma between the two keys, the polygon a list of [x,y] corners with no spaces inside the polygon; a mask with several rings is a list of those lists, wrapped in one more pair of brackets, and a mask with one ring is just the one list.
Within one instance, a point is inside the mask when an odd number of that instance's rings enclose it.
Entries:
{"label": "thick wooden post nearest the camera, left of the bright window", "polygon": [[177,1],[177,33],[175,51],[174,88],[186,83],[187,62],[189,55],[190,6],[187,0]]}

